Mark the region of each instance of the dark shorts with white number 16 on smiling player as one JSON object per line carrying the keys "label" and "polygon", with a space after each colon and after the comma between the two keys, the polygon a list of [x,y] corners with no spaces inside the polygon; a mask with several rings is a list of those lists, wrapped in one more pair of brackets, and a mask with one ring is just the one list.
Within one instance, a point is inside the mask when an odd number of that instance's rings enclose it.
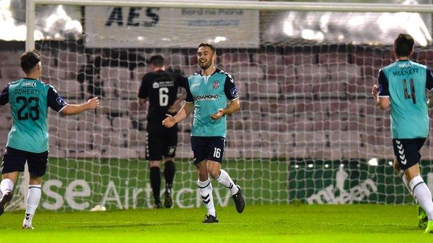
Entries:
{"label": "dark shorts with white number 16 on smiling player", "polygon": [[226,138],[222,136],[192,136],[191,148],[194,153],[194,165],[204,160],[223,161]]}

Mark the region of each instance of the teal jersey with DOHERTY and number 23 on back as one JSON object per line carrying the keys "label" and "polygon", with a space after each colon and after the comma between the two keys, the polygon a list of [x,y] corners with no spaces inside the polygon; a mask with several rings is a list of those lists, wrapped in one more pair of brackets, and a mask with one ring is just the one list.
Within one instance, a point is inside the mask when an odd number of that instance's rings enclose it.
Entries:
{"label": "teal jersey with DOHERTY and number 23 on back", "polygon": [[7,103],[13,125],[6,146],[33,153],[49,150],[48,107],[60,112],[67,106],[56,89],[40,80],[22,78],[0,93],[0,105]]}

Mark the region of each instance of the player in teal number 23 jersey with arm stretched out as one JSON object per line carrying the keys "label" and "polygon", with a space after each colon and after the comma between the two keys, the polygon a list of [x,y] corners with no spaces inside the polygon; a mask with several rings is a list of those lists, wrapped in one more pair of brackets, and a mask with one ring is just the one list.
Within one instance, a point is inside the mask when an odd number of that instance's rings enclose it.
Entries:
{"label": "player in teal number 23 jersey with arm stretched out", "polygon": [[48,107],[68,116],[96,109],[99,107],[99,100],[92,98],[81,105],[68,104],[54,87],[40,80],[42,64],[35,51],[24,53],[20,59],[22,70],[26,73],[25,78],[10,82],[0,93],[0,105],[9,103],[13,118],[1,165],[0,215],[12,199],[18,174],[24,171],[27,162],[30,181],[23,228],[33,229],[32,219],[39,205],[42,176],[48,163]]}

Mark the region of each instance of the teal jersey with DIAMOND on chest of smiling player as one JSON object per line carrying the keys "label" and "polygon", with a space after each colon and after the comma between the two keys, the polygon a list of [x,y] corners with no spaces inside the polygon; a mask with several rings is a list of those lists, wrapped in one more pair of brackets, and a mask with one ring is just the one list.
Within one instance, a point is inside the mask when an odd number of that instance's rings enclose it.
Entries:
{"label": "teal jersey with DIAMOND on chest of smiling player", "polygon": [[226,116],[212,120],[211,114],[227,106],[228,100],[239,98],[232,75],[217,69],[210,76],[201,72],[188,78],[185,102],[194,102],[194,120],[191,136],[226,137]]}

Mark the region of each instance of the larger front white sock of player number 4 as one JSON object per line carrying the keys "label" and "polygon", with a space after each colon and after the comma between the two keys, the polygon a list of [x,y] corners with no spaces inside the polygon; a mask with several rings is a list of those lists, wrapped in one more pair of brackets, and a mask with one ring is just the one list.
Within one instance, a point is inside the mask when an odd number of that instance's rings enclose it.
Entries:
{"label": "larger front white sock of player number 4", "polygon": [[432,194],[427,185],[425,185],[423,177],[419,175],[414,177],[409,182],[409,185],[416,200],[418,200],[418,204],[424,209],[425,213],[427,213],[428,219],[433,220]]}

